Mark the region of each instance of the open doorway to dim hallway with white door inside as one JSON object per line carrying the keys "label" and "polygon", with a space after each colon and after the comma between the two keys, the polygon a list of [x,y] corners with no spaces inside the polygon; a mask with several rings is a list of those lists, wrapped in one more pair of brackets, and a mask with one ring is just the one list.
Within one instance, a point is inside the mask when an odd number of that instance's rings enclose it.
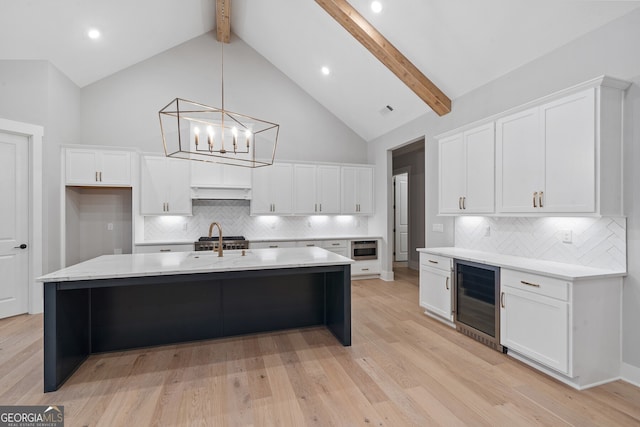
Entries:
{"label": "open doorway to dim hallway with white door inside", "polygon": [[[412,142],[391,152],[394,183],[394,275],[418,271],[417,248],[425,242],[425,142]],[[406,177],[406,183],[403,181]],[[403,200],[404,198],[404,200]]]}

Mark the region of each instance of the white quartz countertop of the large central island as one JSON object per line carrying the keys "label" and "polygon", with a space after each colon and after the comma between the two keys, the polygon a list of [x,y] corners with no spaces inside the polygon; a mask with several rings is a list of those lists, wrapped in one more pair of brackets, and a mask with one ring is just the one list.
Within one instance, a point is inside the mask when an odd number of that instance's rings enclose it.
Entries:
{"label": "white quartz countertop of the large central island", "polygon": [[113,279],[122,277],[168,276],[174,274],[278,268],[346,265],[354,261],[318,247],[247,249],[224,252],[164,252],[151,254],[103,255],[49,273],[40,282]]}

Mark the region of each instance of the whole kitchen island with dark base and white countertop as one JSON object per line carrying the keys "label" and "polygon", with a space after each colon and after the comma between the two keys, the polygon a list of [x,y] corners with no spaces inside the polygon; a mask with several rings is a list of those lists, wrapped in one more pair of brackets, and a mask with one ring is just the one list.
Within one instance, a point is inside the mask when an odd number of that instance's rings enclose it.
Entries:
{"label": "whole kitchen island with dark base and white countertop", "polygon": [[104,255],[44,282],[44,391],[93,353],[325,325],[351,345],[353,261],[325,249]]}

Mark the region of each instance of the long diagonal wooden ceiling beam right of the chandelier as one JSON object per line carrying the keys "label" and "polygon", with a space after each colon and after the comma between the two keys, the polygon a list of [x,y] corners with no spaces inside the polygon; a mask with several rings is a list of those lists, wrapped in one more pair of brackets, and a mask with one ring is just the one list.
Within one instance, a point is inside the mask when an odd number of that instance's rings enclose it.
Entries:
{"label": "long diagonal wooden ceiling beam right of the chandelier", "polygon": [[316,0],[369,52],[439,116],[451,112],[451,100],[346,0]]}

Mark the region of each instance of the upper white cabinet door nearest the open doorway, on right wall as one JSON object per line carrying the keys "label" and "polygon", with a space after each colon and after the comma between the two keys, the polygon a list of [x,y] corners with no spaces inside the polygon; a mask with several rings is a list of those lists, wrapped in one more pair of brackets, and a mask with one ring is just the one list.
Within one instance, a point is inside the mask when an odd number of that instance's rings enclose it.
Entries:
{"label": "upper white cabinet door nearest the open doorway, on right wall", "polygon": [[440,213],[461,213],[466,167],[462,133],[443,139],[440,151]]}

